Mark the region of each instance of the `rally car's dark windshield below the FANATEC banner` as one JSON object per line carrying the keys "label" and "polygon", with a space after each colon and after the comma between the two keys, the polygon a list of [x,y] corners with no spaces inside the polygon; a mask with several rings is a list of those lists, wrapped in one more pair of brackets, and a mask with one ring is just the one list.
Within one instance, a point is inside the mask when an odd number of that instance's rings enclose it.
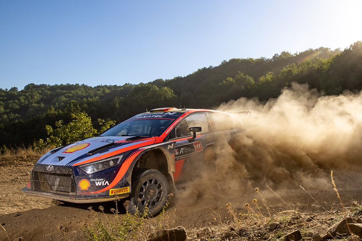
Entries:
{"label": "rally car's dark windshield below the FANATEC banner", "polygon": [[176,112],[166,113],[166,115],[165,113],[162,113],[162,115],[156,115],[157,113],[136,115],[105,131],[101,136],[159,136],[181,114]]}

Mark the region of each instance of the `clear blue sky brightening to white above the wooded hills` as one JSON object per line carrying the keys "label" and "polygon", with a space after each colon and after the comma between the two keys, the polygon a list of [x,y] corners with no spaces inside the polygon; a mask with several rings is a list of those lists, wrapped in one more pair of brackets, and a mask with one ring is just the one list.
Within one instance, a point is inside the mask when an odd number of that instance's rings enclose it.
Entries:
{"label": "clear blue sky brightening to white above the wooded hills", "polygon": [[345,48],[362,1],[0,0],[0,88],[123,85],[223,60]]}

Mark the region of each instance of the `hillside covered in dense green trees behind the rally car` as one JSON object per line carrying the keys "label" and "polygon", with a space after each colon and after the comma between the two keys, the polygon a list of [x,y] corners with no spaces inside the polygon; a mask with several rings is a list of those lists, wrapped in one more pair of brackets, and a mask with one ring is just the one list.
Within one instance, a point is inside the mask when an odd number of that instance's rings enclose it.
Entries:
{"label": "hillside covered in dense green trees behind the rally car", "polygon": [[282,52],[271,59],[231,59],[185,77],[146,84],[29,84],[20,91],[0,89],[0,146],[29,145],[46,138],[45,125],[54,126],[58,120],[67,123],[71,113],[86,112],[98,128],[97,119],[119,122],[146,108],[178,107],[180,103],[188,108],[213,108],[242,96],[268,100],[291,82],[308,83],[326,95],[361,90],[362,42],[344,51],[318,48]]}

